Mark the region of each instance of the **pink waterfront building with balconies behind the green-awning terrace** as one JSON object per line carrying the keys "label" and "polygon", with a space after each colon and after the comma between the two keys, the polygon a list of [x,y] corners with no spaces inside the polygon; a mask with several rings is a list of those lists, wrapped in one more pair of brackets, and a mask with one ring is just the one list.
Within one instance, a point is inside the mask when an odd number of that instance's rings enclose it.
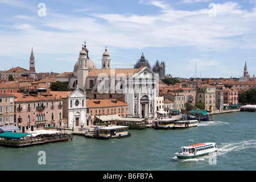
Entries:
{"label": "pink waterfront building with balconies behind the green-awning terrace", "polygon": [[13,93],[15,96],[15,121],[22,133],[63,126],[62,98],[51,93]]}

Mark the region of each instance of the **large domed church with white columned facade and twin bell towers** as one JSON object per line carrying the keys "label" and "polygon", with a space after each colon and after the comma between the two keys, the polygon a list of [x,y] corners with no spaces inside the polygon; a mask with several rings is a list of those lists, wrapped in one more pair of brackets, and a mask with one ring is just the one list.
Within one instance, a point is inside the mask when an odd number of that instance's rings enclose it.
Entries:
{"label": "large domed church with white columned facade and twin bell towers", "polygon": [[56,76],[56,81],[65,81],[71,89],[84,90],[86,98],[119,99],[128,105],[128,117],[152,117],[158,96],[155,74],[148,67],[113,69],[108,49],[102,54],[101,69],[89,59],[88,49],[82,46],[73,72]]}

